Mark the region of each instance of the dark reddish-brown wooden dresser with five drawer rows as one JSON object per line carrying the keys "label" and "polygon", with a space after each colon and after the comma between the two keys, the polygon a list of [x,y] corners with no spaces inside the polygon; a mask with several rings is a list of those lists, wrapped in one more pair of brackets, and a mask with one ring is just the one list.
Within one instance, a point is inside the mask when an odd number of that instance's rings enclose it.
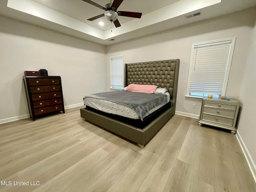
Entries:
{"label": "dark reddish-brown wooden dresser with five drawer rows", "polygon": [[65,113],[60,76],[23,76],[33,121],[59,111]]}

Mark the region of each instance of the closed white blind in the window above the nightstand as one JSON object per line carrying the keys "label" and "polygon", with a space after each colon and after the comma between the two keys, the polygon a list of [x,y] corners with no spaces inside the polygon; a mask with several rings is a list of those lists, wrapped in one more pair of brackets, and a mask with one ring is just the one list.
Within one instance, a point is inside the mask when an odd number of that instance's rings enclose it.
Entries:
{"label": "closed white blind in the window above the nightstand", "polygon": [[222,94],[231,43],[194,45],[189,92]]}

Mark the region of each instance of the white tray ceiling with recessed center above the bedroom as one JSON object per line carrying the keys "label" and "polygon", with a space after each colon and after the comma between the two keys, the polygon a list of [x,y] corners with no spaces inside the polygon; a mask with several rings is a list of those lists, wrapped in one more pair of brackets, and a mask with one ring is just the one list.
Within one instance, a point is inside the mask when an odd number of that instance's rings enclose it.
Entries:
{"label": "white tray ceiling with recessed center above the bedroom", "polygon": [[[92,0],[105,6],[110,0]],[[208,18],[256,6],[256,0],[124,0],[118,10],[142,12],[142,18],[119,16],[121,27],[115,28],[104,17],[94,21],[88,18],[104,10],[82,0],[0,0],[0,14],[89,40],[102,45],[114,44],[132,38],[168,30]],[[186,19],[186,15],[201,12]],[[99,26],[98,22],[105,25]],[[114,41],[109,41],[115,39]]]}

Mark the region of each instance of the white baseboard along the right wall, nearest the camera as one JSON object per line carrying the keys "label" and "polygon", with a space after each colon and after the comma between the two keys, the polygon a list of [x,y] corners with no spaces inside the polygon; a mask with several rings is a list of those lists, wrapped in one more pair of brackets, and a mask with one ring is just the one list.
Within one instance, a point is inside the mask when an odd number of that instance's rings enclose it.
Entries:
{"label": "white baseboard along the right wall, nearest the camera", "polygon": [[244,157],[245,157],[246,162],[250,168],[254,182],[256,183],[256,165],[255,165],[255,163],[252,159],[252,156],[250,155],[250,153],[249,153],[246,145],[244,144],[244,141],[238,131],[236,132],[236,138],[238,140],[238,143],[240,144],[242,152],[244,153]]}

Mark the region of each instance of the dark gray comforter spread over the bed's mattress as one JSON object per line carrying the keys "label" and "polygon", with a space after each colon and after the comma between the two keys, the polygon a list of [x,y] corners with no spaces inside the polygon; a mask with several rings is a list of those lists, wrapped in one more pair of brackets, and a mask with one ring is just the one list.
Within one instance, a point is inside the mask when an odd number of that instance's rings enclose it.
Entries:
{"label": "dark gray comforter spread over the bed's mattress", "polygon": [[168,96],[166,94],[149,94],[123,90],[90,94],[84,98],[108,100],[129,106],[138,113],[142,121],[150,110],[157,106],[168,103]]}

